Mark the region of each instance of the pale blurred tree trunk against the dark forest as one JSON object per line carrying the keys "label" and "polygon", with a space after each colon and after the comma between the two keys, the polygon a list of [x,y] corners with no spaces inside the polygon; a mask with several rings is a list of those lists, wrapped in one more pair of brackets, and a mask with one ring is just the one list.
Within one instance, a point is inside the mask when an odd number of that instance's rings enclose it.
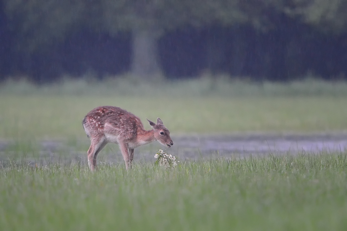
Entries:
{"label": "pale blurred tree trunk against the dark forest", "polygon": [[158,36],[153,29],[134,29],[132,74],[134,78],[154,81],[161,78]]}

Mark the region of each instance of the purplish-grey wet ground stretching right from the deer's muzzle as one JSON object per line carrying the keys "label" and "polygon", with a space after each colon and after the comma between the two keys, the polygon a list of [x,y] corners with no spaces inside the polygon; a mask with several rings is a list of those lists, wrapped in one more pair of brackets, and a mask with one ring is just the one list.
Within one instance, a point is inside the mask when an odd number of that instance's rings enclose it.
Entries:
{"label": "purplish-grey wet ground stretching right from the deer's muzzle", "polygon": [[249,155],[301,154],[340,152],[347,150],[347,133],[314,135],[226,135],[179,137],[178,145],[187,157],[195,156],[194,149],[204,155],[218,153],[220,156],[238,154]]}

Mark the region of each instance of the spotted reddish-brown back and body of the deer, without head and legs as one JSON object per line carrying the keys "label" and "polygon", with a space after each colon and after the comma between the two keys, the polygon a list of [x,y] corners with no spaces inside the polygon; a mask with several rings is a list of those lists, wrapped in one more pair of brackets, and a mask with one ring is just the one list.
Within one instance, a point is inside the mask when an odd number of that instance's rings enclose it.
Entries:
{"label": "spotted reddish-brown back and body of the deer, without head and legs", "polygon": [[84,129],[91,136],[114,136],[115,139],[133,140],[143,128],[140,119],[124,109],[101,106],[91,110],[83,119]]}

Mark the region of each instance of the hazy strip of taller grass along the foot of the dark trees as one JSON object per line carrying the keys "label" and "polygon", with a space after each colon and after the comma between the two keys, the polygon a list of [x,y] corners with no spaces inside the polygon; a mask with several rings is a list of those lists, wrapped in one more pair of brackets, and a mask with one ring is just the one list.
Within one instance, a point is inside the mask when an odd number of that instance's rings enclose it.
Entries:
{"label": "hazy strip of taller grass along the foot of the dark trees", "polygon": [[131,76],[110,77],[96,81],[93,76],[59,83],[33,85],[25,80],[1,83],[3,95],[93,95],[135,97],[249,97],[249,96],[347,96],[346,81],[323,81],[308,76],[291,82],[250,82],[228,76],[203,75],[200,79],[144,82]]}

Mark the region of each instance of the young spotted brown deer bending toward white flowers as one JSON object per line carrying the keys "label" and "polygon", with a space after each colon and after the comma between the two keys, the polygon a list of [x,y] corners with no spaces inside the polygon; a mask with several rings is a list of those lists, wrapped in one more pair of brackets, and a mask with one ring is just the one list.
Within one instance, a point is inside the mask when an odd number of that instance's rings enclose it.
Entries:
{"label": "young spotted brown deer bending toward white flowers", "polygon": [[137,116],[119,107],[100,106],[88,112],[82,125],[91,141],[87,151],[90,170],[97,169],[96,157],[107,143],[119,145],[126,170],[132,168],[134,148],[155,140],[168,148],[174,145],[169,130],[160,118],[156,119],[156,124],[149,119],[147,121],[152,130],[145,130]]}

